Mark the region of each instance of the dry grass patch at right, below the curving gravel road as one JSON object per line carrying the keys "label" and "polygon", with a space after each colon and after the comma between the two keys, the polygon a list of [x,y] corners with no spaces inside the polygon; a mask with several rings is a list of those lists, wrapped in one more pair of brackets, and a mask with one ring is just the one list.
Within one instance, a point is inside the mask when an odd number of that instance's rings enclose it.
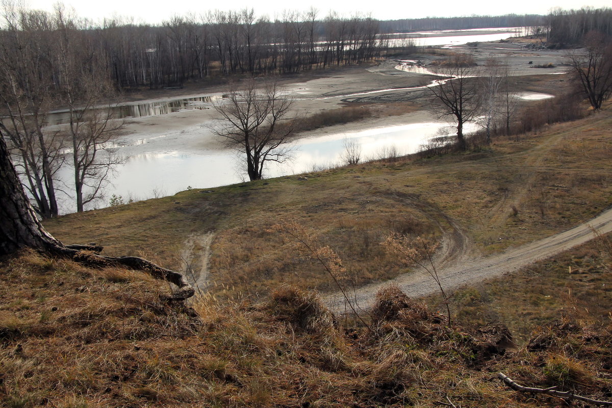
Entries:
{"label": "dry grass patch at right, below the curving gravel road", "polygon": [[539,326],[554,319],[581,325],[611,320],[612,262],[606,248],[612,235],[536,262],[504,278],[455,292],[458,321],[476,327],[502,322],[518,343],[526,343]]}

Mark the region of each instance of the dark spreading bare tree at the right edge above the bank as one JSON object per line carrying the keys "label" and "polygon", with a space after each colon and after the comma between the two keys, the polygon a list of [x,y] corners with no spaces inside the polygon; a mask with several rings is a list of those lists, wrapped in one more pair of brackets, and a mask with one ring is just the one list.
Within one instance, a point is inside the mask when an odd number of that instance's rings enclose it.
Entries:
{"label": "dark spreading bare tree at the right edge above the bank", "polygon": [[591,31],[584,36],[584,45],[584,51],[567,53],[567,60],[581,93],[597,110],[612,95],[612,43]]}

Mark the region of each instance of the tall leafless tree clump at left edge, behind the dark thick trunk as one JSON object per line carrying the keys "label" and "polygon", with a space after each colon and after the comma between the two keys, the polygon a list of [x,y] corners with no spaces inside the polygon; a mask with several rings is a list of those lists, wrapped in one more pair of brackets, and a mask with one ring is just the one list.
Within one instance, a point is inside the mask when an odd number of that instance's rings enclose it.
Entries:
{"label": "tall leafless tree clump at left edge, behind the dark thick trunk", "polygon": [[42,217],[58,215],[56,172],[62,145],[45,130],[54,106],[51,21],[46,13],[3,4],[0,31],[0,137],[9,143],[24,188]]}

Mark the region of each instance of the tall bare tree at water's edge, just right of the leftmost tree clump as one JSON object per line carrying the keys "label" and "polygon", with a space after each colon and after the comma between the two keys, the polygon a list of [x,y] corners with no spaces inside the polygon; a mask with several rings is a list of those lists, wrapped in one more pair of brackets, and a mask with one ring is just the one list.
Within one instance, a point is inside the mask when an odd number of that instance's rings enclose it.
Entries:
{"label": "tall bare tree at water's edge, just right of the leftmost tree clump", "polygon": [[105,58],[96,52],[87,37],[76,35],[74,17],[57,7],[58,93],[68,107],[67,141],[72,150],[76,211],[103,197],[103,187],[115,165],[112,142],[124,126],[113,120],[111,98],[114,89],[106,70]]}

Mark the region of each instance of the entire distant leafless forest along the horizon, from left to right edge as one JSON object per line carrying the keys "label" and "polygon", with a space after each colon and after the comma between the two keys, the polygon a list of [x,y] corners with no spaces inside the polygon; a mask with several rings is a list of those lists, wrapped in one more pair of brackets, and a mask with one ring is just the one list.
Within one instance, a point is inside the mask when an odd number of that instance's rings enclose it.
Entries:
{"label": "entire distant leafless forest along the horizon, from left to right edge", "polygon": [[[556,43],[578,43],[586,32],[611,34],[611,9],[559,10],[548,16],[502,15],[378,21],[363,15],[285,12],[270,20],[250,9],[173,17],[159,25],[116,18],[92,23],[65,10],[4,9],[0,61],[38,70],[51,87],[65,48],[119,89],[181,86],[231,75],[274,75],[360,64],[387,51],[380,34],[427,29],[532,27]],[[90,56],[95,56],[95,61]],[[92,67],[95,62],[95,67]],[[21,78],[23,72],[15,73]],[[26,81],[27,78],[20,80]]]}

